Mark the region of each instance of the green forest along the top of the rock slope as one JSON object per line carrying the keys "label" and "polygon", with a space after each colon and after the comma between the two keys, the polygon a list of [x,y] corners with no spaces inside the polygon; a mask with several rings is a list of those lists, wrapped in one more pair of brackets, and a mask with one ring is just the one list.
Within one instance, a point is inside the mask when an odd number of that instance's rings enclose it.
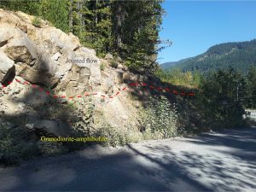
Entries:
{"label": "green forest along the top of the rock slope", "polygon": [[49,20],[63,32],[73,32],[80,42],[125,60],[132,69],[156,67],[160,43],[162,1],[42,0],[1,1],[0,8],[19,10]]}

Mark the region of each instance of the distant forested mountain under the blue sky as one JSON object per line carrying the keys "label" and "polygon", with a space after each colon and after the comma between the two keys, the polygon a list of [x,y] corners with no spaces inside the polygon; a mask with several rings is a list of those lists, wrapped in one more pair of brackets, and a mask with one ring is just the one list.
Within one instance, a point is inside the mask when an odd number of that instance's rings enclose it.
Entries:
{"label": "distant forested mountain under the blue sky", "polygon": [[217,44],[201,55],[177,61],[171,67],[166,67],[166,65],[165,69],[179,68],[183,72],[208,73],[218,68],[232,66],[241,73],[247,73],[250,65],[256,66],[256,39],[246,42]]}

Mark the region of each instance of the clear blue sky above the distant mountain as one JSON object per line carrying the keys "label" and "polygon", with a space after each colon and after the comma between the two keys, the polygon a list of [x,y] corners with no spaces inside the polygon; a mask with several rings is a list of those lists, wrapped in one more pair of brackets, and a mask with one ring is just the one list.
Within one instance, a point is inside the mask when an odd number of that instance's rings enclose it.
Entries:
{"label": "clear blue sky above the distant mountain", "polygon": [[166,0],[163,7],[160,39],[169,39],[172,46],[160,51],[159,63],[200,55],[215,44],[256,38],[256,0]]}

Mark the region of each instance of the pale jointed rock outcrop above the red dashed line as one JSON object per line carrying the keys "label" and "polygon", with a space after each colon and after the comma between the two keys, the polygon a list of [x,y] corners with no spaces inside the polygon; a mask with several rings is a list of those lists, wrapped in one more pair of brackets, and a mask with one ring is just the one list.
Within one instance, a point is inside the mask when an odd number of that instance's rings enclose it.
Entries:
{"label": "pale jointed rock outcrop above the red dashed line", "polygon": [[[89,84],[101,84],[100,60],[93,49],[81,47],[79,39],[33,16],[0,9],[0,82],[10,73],[34,83],[65,90],[68,96]],[[75,62],[83,59],[84,63]],[[90,63],[90,61],[96,61]]]}

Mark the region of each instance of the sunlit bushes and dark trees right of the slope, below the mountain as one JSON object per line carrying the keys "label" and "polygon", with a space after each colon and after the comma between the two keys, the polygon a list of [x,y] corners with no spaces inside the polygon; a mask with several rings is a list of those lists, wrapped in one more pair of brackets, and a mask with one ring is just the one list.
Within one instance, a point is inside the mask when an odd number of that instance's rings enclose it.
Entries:
{"label": "sunlit bushes and dark trees right of the slope, below the mountain", "polygon": [[196,89],[191,104],[201,113],[203,126],[209,129],[246,126],[244,109],[256,108],[256,67],[250,67],[247,75],[232,67],[208,75],[159,69],[155,75],[162,81]]}

